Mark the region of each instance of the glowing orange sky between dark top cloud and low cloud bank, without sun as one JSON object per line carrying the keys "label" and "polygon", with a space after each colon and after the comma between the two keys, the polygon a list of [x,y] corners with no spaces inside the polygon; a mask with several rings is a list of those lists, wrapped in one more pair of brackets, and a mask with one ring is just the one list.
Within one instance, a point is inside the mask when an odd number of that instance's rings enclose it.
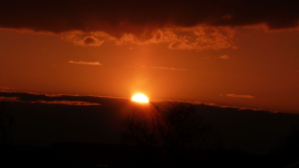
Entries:
{"label": "glowing orange sky between dark top cloud and low cloud bank, without sun", "polygon": [[0,90],[299,112],[298,28],[176,22],[114,33],[0,25]]}

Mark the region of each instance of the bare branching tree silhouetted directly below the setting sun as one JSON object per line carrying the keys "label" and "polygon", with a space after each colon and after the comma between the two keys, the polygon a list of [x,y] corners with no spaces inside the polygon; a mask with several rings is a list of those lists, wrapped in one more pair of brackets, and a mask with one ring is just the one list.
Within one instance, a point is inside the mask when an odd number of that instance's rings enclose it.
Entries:
{"label": "bare branching tree silhouetted directly below the setting sun", "polygon": [[135,109],[123,123],[128,129],[123,141],[143,146],[200,149],[209,138],[219,138],[213,127],[201,122],[193,104]]}

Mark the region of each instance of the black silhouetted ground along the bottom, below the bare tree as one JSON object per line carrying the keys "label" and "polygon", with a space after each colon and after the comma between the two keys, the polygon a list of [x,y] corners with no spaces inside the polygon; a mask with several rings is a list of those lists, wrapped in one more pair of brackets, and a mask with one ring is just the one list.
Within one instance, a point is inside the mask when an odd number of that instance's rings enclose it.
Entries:
{"label": "black silhouetted ground along the bottom, below the bare tree", "polygon": [[2,145],[1,167],[289,167],[295,155],[65,142],[47,148]]}

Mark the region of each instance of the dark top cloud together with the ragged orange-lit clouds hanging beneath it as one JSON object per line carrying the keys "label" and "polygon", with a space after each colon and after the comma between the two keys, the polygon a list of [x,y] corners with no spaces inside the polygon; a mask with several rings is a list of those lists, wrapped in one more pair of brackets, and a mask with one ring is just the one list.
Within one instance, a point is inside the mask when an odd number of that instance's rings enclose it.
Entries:
{"label": "dark top cloud together with the ragged orange-lit clouds hanging beneath it", "polygon": [[3,2],[0,20],[0,28],[56,34],[75,46],[99,47],[104,42],[165,43],[173,50],[199,51],[236,49],[236,27],[298,28],[299,11],[295,1],[268,4],[237,0],[171,3],[103,0],[82,4],[33,0],[17,5]]}

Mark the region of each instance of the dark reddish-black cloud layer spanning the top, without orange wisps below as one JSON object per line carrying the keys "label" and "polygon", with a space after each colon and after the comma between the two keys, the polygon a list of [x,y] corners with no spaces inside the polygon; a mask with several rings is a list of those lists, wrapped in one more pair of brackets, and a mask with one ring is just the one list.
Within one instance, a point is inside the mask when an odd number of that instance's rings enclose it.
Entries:
{"label": "dark reddish-black cloud layer spanning the top, without orange wisps below", "polygon": [[298,27],[296,1],[2,1],[0,27],[143,33],[165,26]]}

